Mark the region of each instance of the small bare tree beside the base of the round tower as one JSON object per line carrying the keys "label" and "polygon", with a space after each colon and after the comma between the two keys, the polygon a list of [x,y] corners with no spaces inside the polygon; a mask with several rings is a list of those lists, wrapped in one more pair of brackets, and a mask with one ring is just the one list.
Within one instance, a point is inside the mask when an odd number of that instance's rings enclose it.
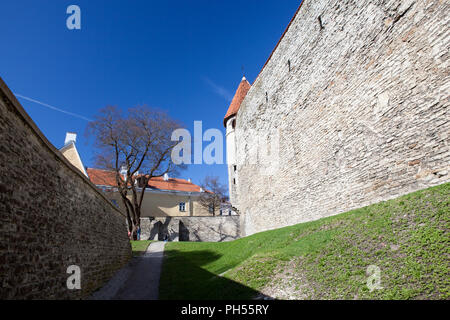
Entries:
{"label": "small bare tree beside the base of the round tower", "polygon": [[212,176],[205,177],[201,186],[205,192],[200,196],[200,204],[215,216],[228,199],[227,187],[220,183],[219,177]]}

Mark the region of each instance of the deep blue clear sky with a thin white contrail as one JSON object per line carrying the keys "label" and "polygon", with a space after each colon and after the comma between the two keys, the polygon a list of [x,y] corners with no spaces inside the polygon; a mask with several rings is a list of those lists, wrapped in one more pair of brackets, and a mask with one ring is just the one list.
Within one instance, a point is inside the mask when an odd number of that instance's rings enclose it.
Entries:
{"label": "deep blue clear sky with a thin white contrail", "polygon": [[[81,30],[66,9],[81,8]],[[252,83],[300,0],[15,0],[0,4],[0,76],[15,94],[92,118],[106,105],[167,110],[193,133],[222,125],[241,80]],[[85,166],[93,166],[87,121],[19,101],[57,148],[77,132]],[[204,145],[205,146],[205,145]],[[190,165],[180,178],[206,175],[227,183],[225,165]]]}

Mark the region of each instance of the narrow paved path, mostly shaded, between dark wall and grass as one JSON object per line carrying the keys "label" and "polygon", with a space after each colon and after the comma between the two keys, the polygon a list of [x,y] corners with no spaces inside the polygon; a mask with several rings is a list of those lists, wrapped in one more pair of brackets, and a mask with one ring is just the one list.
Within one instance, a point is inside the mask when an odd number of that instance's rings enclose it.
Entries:
{"label": "narrow paved path, mostly shaded, between dark wall and grass", "polygon": [[165,242],[152,242],[147,251],[135,257],[91,299],[157,300]]}

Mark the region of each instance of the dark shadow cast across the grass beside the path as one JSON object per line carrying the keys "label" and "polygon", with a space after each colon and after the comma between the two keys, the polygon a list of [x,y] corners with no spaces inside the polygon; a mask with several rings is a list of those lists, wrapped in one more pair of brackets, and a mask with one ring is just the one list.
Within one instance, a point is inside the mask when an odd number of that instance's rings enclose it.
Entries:
{"label": "dark shadow cast across the grass beside the path", "polygon": [[220,254],[209,250],[166,250],[159,284],[159,299],[271,299],[259,291],[202,267],[220,257]]}

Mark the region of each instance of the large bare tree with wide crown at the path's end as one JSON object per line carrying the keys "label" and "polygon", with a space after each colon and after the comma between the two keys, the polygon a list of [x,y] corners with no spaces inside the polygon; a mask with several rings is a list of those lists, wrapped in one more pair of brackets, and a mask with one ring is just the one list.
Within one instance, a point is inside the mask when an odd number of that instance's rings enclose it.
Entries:
{"label": "large bare tree with wide crown at the path's end", "polygon": [[95,138],[96,164],[115,172],[129,231],[136,239],[149,180],[184,168],[170,158],[177,144],[171,141],[171,135],[180,124],[146,106],[130,108],[125,116],[117,107],[108,106],[94,119],[86,134]]}

